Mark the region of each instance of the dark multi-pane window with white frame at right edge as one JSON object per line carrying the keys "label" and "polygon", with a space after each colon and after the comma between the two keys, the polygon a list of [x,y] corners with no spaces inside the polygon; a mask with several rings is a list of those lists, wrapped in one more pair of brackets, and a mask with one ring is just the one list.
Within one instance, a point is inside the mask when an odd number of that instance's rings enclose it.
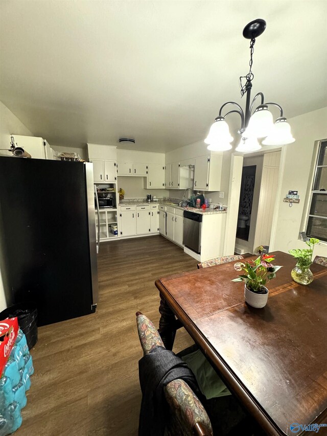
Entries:
{"label": "dark multi-pane window with white frame at right edge", "polygon": [[318,150],[306,233],[327,242],[327,141]]}

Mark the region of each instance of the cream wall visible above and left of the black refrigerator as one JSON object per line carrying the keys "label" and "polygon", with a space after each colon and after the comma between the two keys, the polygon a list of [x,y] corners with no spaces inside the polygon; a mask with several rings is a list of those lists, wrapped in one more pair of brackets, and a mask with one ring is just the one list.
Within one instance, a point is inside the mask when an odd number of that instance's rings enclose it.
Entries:
{"label": "cream wall visible above and left of the black refrigerator", "polygon": [[[33,133],[0,101],[0,148],[10,148],[10,135],[12,134],[33,136]],[[2,154],[12,156],[10,151],[4,151]],[[4,265],[2,247],[2,235],[0,235],[0,311],[7,307],[6,278],[4,272],[1,271],[1,267]]]}

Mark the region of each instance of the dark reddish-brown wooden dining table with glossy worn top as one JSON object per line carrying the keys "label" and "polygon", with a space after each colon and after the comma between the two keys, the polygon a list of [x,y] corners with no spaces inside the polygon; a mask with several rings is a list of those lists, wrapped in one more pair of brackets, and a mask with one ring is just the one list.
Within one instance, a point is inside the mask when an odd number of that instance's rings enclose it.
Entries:
{"label": "dark reddish-brown wooden dining table with glossy worn top", "polygon": [[[159,332],[172,349],[184,327],[268,435],[327,434],[327,268],[313,282],[291,278],[296,259],[274,251],[282,268],[266,284],[267,305],[245,303],[241,272],[228,262],[160,278]],[[248,262],[252,256],[238,262]]]}

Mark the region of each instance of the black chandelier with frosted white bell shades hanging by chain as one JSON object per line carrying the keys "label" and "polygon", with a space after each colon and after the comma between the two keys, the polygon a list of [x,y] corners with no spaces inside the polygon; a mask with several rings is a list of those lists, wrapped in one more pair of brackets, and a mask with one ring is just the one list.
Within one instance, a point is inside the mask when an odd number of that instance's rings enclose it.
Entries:
{"label": "black chandelier with frosted white bell shades hanging by chain", "polygon": [[[256,151],[261,149],[258,139],[263,139],[264,145],[285,145],[295,141],[291,133],[291,126],[288,124],[286,118],[283,116],[283,109],[277,103],[265,103],[263,93],[258,93],[251,101],[251,88],[252,88],[252,56],[254,51],[255,38],[260,36],[266,29],[266,21],[263,19],[256,19],[249,22],[243,30],[243,36],[250,39],[250,71],[246,76],[240,77],[241,97],[246,94],[245,112],[242,107],[233,102],[228,101],[224,103],[220,110],[219,115],[215,119],[214,124],[211,126],[208,136],[204,140],[208,144],[208,150],[212,151],[226,151],[231,149],[231,142],[233,137],[229,132],[228,124],[225,118],[230,113],[238,113],[241,117],[241,128],[238,133],[241,135],[241,141],[236,148],[236,151]],[[242,79],[246,83],[242,86]],[[255,101],[261,99],[259,106],[254,108]],[[234,108],[222,115],[223,109],[227,105],[233,105]],[[272,113],[268,107],[274,106],[279,110],[279,117],[273,123]],[[225,109],[226,110],[226,109]]]}

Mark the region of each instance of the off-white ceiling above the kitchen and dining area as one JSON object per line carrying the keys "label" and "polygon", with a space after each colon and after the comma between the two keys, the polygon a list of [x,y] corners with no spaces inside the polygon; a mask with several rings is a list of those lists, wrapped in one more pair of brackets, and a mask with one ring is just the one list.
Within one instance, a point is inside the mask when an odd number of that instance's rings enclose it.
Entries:
{"label": "off-white ceiling above the kitchen and dining area", "polygon": [[253,96],[288,118],[327,106],[325,1],[0,4],[0,100],[52,145],[130,149],[118,143],[130,136],[136,150],[165,152],[203,140],[225,101],[245,106],[242,31],[255,18],[267,29],[254,46]]}

